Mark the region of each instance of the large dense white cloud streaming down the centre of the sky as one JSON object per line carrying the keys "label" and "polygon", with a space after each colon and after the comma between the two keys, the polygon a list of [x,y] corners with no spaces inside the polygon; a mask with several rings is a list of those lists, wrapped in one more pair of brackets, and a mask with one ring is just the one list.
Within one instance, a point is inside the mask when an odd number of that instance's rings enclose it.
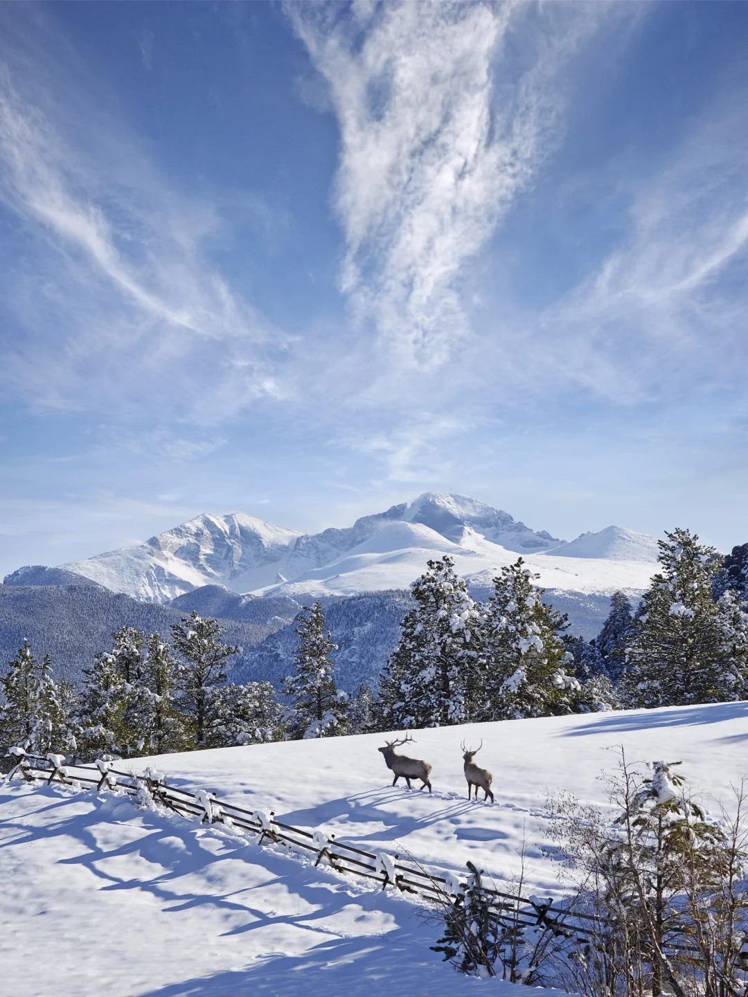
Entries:
{"label": "large dense white cloud streaming down the centre of the sky", "polygon": [[554,147],[601,5],[289,5],[340,128],[341,288],[398,363],[469,332],[466,270]]}

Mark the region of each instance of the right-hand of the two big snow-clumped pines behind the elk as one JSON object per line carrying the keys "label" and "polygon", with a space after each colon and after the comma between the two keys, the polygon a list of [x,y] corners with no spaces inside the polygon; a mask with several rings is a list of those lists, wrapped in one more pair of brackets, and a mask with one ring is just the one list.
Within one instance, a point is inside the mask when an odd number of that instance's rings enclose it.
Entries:
{"label": "right-hand of the two big snow-clumped pines behind the elk", "polygon": [[571,713],[580,693],[562,634],[567,623],[542,601],[520,557],[494,578],[486,614],[487,664],[480,718],[511,720]]}

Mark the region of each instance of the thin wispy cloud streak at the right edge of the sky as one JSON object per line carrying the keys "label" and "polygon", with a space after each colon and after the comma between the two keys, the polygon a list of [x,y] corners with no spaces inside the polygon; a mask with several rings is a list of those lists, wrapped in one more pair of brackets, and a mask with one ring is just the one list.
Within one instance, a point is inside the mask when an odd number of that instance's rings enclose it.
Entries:
{"label": "thin wispy cloud streak at the right edge of the sky", "polygon": [[560,379],[618,403],[672,399],[748,366],[746,88],[724,88],[631,191],[616,245],[532,322]]}

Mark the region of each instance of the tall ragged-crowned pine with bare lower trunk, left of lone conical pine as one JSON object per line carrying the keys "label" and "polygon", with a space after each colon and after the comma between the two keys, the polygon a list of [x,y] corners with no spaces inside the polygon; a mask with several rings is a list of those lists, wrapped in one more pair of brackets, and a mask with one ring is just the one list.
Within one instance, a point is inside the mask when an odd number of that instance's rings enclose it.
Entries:
{"label": "tall ragged-crowned pine with bare lower trunk, left of lone conical pine", "polygon": [[213,687],[226,680],[225,665],[237,654],[221,639],[216,620],[198,616],[192,610],[188,619],[172,627],[174,648],[183,658],[180,670],[180,711],[185,718],[187,747],[204,748],[215,702]]}

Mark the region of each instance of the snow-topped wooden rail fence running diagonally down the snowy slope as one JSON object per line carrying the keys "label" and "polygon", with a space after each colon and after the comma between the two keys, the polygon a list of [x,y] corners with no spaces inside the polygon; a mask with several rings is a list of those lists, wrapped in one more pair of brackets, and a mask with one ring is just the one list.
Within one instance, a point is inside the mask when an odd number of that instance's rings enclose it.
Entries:
{"label": "snow-topped wooden rail fence running diagonally down the snowy slope", "polygon": [[[10,781],[19,774],[29,782],[44,779],[47,784],[61,783],[74,788],[88,784],[97,791],[118,789],[129,796],[160,804],[180,817],[199,820],[203,824],[222,824],[231,830],[250,831],[257,834],[257,844],[272,841],[287,847],[300,848],[316,854],[315,865],[326,858],[336,872],[364,876],[381,883],[381,888],[394,886],[405,893],[412,893],[445,904],[451,903],[460,888],[457,876],[436,875],[413,863],[404,862],[398,854],[374,854],[336,839],[334,834],[323,831],[305,831],[276,821],[273,813],[248,811],[236,804],[218,800],[205,790],[190,792],[169,786],[164,775],[146,769],[142,776],[116,769],[112,762],[99,760],[93,765],[70,765],[60,755],[46,758],[28,755],[22,748],[12,748],[16,764],[5,777]],[[492,912],[502,923],[511,926],[544,926],[568,938],[584,941],[590,930],[586,921],[589,915],[554,906],[553,898],[547,902],[537,897],[524,897],[501,890],[487,890],[494,899]],[[509,925],[508,925],[509,926]]]}

